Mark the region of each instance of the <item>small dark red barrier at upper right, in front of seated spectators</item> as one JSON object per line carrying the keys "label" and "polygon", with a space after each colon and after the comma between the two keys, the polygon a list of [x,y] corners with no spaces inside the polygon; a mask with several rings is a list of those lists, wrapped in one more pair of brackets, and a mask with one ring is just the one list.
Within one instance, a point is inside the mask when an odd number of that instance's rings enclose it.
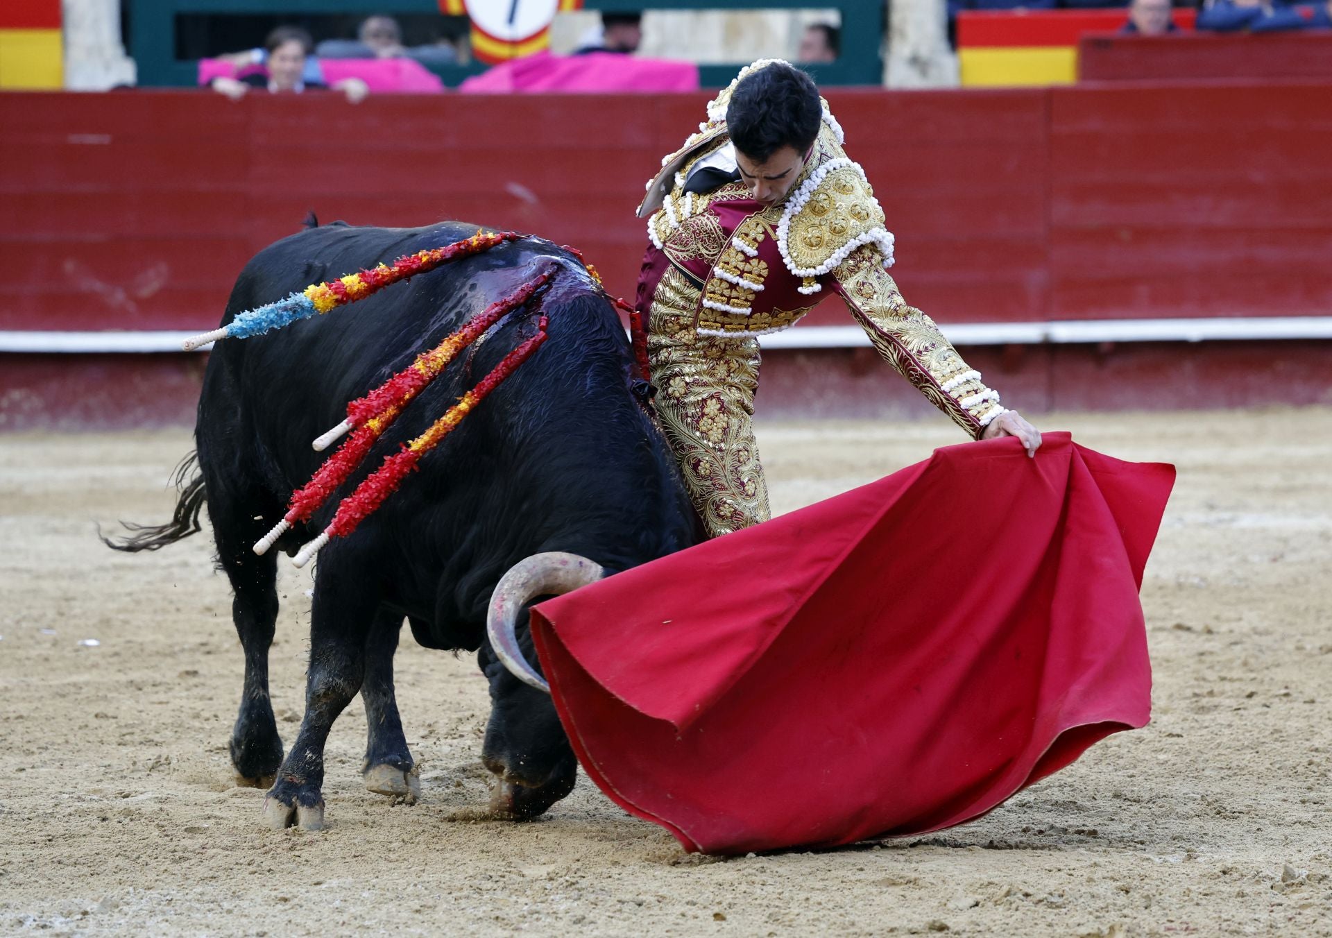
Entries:
{"label": "small dark red barrier at upper right, in front of seated spectators", "polygon": [[1332,32],[1083,36],[1079,81],[1332,79]]}

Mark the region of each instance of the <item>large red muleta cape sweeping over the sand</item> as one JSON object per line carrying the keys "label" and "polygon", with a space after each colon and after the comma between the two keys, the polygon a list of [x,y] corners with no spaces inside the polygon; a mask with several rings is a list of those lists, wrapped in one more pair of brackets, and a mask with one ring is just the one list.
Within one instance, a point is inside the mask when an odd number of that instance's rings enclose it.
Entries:
{"label": "large red muleta cape sweeping over the sand", "polygon": [[583,769],[686,850],[920,834],[1144,726],[1138,598],[1175,469],[1047,433],[531,610]]}

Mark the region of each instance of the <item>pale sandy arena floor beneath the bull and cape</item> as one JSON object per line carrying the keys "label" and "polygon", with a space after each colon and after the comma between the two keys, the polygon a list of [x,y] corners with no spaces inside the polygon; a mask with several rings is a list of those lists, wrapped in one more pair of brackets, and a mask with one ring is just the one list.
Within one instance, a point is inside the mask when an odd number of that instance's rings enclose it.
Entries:
{"label": "pale sandy arena floor beneath the bull and cape", "polygon": [[[361,786],[357,700],[329,830],[261,829],[230,781],[241,654],[209,537],[131,557],[93,536],[166,517],[189,434],[0,436],[0,933],[1332,935],[1332,410],[1039,424],[1179,466],[1143,588],[1154,722],[963,827],[726,861],[585,778],[535,823],[452,821],[486,801],[486,688],[409,638],[422,802]],[[956,442],[938,420],[759,438],[779,512]],[[282,570],[289,743],[309,600]]]}

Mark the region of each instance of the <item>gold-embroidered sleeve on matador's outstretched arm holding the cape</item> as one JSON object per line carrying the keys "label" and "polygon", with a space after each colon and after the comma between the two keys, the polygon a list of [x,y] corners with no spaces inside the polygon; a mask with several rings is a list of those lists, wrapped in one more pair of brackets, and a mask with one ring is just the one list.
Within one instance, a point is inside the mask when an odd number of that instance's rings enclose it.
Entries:
{"label": "gold-embroidered sleeve on matador's outstretched arm holding the cape", "polygon": [[962,360],[934,320],[902,298],[878,248],[856,248],[832,276],[879,354],[972,438],[1004,412],[998,392]]}

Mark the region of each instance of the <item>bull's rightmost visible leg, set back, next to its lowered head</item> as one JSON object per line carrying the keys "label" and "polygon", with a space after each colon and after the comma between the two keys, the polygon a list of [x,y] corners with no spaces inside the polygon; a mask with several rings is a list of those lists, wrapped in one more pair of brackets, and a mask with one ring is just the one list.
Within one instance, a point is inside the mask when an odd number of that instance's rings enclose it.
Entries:
{"label": "bull's rightmost visible leg, set back, next to its lowered head", "polygon": [[412,805],[421,797],[421,781],[416,762],[402,734],[402,718],[393,694],[393,654],[398,648],[402,614],[381,610],[370,626],[365,644],[365,701],[366,743],[361,773],[365,787],[377,794],[401,798]]}

